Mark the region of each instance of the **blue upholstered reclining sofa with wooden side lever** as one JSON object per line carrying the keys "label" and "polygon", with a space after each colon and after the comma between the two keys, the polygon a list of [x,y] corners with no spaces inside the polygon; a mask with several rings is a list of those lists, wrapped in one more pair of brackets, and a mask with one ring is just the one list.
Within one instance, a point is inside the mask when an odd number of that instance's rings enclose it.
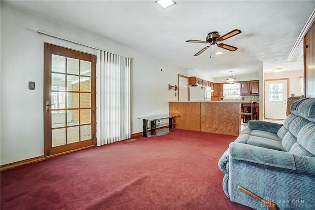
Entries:
{"label": "blue upholstered reclining sofa with wooden side lever", "polygon": [[278,210],[315,210],[315,98],[294,102],[284,124],[250,121],[219,160],[231,201],[267,209],[241,186]]}

